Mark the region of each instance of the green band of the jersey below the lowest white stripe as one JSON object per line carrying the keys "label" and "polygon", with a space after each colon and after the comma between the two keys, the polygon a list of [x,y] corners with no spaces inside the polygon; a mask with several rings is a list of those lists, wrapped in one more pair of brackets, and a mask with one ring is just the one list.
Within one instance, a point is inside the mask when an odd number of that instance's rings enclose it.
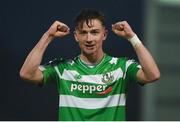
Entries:
{"label": "green band of the jersey below the lowest white stripe", "polygon": [[[78,109],[78,108],[61,108],[59,111],[59,120],[61,121],[124,121],[125,120],[125,107],[118,106],[103,108],[103,109]],[[75,113],[72,115],[72,113]],[[117,116],[112,116],[115,115]],[[69,115],[72,115],[69,117]],[[83,118],[82,118],[83,117]]]}

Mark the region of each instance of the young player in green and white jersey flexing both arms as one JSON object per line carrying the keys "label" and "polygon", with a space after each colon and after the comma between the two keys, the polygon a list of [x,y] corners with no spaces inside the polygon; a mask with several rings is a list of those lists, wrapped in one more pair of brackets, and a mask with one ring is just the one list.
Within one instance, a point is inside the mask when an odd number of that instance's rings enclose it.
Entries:
{"label": "young player in green and white jersey flexing both arms", "polygon": [[132,44],[141,66],[134,60],[104,53],[102,44],[107,37],[104,15],[91,9],[82,10],[75,19],[74,37],[81,54],[74,60],[57,59],[40,66],[49,43],[70,33],[69,27],[59,21],[52,24],[27,56],[20,76],[36,84],[57,84],[59,120],[125,120],[128,83],[146,84],[159,79],[155,61],[129,24],[117,22],[112,31]]}

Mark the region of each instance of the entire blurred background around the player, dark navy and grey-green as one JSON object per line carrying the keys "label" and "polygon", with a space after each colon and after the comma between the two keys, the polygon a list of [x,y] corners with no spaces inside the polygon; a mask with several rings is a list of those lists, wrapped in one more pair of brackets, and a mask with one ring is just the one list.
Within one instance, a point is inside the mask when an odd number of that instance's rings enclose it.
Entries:
{"label": "entire blurred background around the player, dark navy and grey-green", "polygon": [[137,60],[132,46],[111,32],[111,24],[126,20],[154,56],[161,79],[143,87],[129,86],[127,120],[180,120],[180,0],[2,0],[0,2],[0,120],[57,120],[58,93],[50,84],[39,87],[20,79],[20,68],[49,26],[59,20],[71,34],[55,39],[42,64],[80,53],[73,37],[73,19],[82,8],[106,15],[104,50]]}

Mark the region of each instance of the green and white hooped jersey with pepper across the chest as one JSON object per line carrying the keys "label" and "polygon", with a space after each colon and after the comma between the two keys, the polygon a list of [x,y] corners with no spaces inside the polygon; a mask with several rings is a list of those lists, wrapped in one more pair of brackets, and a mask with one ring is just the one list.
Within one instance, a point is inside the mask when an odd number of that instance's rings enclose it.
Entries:
{"label": "green and white hooped jersey with pepper across the chest", "polygon": [[140,66],[105,55],[94,67],[79,57],[43,66],[43,83],[56,82],[61,121],[125,120],[126,91]]}

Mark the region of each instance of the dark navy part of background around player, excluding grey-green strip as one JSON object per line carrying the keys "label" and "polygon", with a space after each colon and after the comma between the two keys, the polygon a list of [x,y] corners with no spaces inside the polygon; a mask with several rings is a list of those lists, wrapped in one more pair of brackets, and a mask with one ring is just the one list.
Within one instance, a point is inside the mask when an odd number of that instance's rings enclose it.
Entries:
{"label": "dark navy part of background around player, excluding grey-green strip", "polygon": [[[143,0],[4,0],[0,2],[0,120],[57,120],[58,93],[53,85],[38,87],[20,79],[20,68],[42,34],[55,21],[73,32],[73,18],[82,8],[96,8],[107,17],[109,36],[104,50],[112,56],[137,59],[131,45],[111,32],[111,24],[126,20],[143,38]],[[55,39],[42,63],[80,53],[73,33]],[[129,86],[127,119],[141,120],[141,87]]]}

